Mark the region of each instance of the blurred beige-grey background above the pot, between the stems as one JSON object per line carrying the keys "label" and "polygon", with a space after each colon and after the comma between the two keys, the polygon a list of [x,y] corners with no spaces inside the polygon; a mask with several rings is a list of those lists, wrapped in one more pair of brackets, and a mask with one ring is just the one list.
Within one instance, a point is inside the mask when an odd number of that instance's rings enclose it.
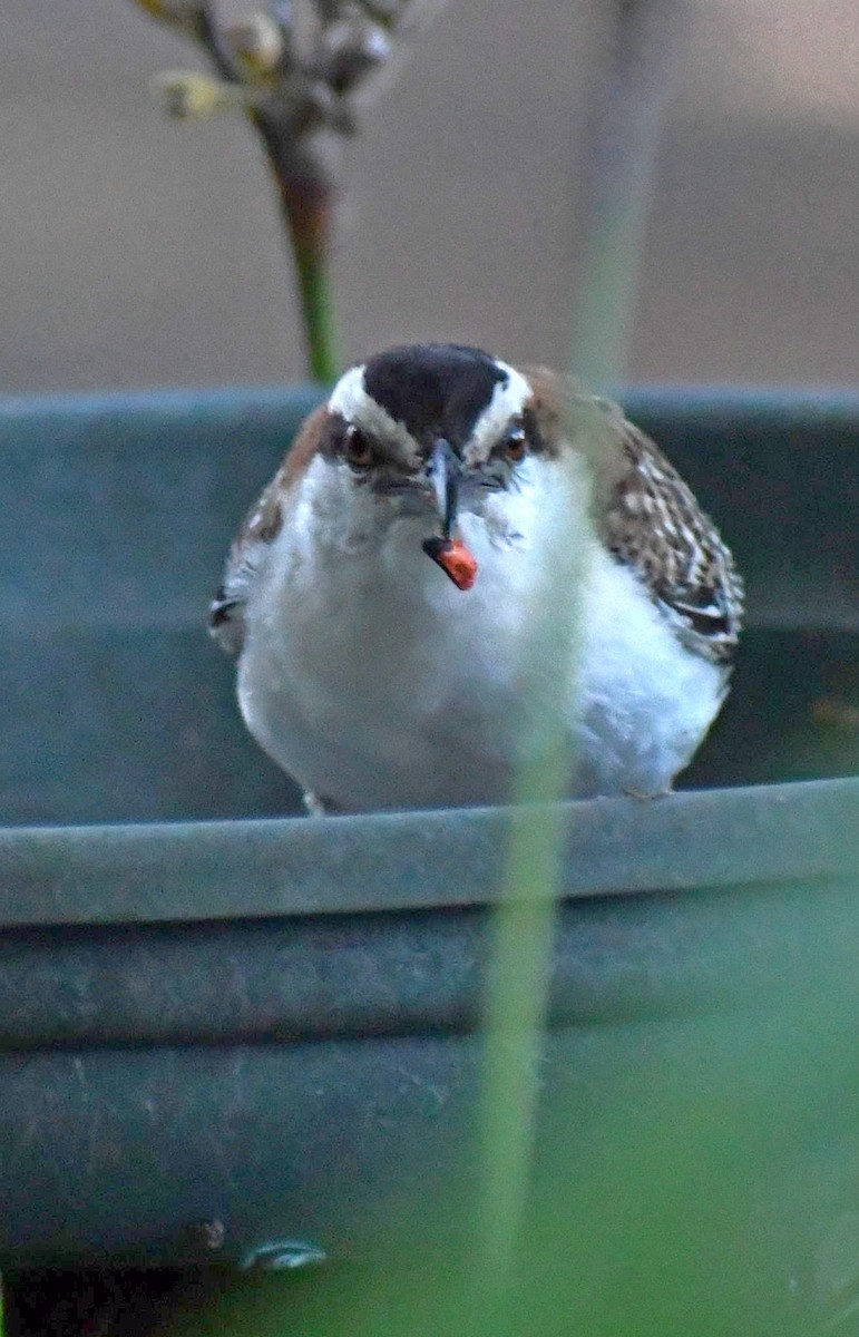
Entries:
{"label": "blurred beige-grey background above the pot, between the stems", "polygon": [[[629,376],[851,384],[855,0],[700,0],[665,124]],[[593,0],[450,0],[348,164],[347,353],[456,337],[565,364]],[[167,123],[193,47],[131,0],[0,5],[0,392],[302,374],[269,182],[240,119]]]}

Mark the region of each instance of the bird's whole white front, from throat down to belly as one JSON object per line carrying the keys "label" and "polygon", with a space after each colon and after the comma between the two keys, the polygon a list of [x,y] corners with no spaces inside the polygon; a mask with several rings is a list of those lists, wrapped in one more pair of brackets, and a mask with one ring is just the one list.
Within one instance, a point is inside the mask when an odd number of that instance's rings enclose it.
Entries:
{"label": "bird's whole white front, from throat down to belly", "polygon": [[249,599],[240,702],[305,789],[347,809],[503,802],[519,758],[562,730],[574,793],[665,789],[723,673],[676,640],[598,544],[570,464],[463,513],[478,562],[456,590],[425,517],[317,460]]}

